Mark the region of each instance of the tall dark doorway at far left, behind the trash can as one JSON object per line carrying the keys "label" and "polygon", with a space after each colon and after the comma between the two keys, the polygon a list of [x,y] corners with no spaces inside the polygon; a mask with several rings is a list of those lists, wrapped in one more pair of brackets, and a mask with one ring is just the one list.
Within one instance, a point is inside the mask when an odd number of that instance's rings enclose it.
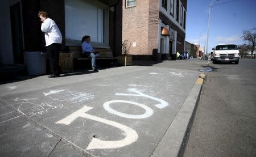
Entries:
{"label": "tall dark doorway at far left, behind the trash can", "polygon": [[20,2],[10,7],[14,63],[24,64]]}

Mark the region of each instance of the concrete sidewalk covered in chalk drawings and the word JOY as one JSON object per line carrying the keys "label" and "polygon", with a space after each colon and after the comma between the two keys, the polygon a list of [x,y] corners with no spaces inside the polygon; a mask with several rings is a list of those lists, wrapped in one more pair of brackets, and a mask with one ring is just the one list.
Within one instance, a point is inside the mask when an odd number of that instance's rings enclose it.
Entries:
{"label": "concrete sidewalk covered in chalk drawings and the word JOY", "polygon": [[0,156],[182,154],[207,63],[165,61],[2,84]]}

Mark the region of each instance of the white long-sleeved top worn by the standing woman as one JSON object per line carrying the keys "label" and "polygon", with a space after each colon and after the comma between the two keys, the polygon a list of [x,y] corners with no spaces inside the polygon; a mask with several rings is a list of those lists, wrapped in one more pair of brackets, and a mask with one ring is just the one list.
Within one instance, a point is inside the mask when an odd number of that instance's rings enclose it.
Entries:
{"label": "white long-sleeved top worn by the standing woman", "polygon": [[44,37],[46,39],[46,46],[49,46],[53,43],[61,44],[62,36],[60,29],[57,27],[57,24],[50,18],[44,20],[41,26],[42,32],[44,32]]}

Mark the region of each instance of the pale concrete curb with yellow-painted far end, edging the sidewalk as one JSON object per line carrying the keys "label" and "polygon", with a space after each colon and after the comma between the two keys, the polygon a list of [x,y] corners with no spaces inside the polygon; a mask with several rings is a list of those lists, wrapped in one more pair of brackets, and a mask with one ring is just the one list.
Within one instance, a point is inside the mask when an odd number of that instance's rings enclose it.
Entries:
{"label": "pale concrete curb with yellow-painted far end, edging the sidewalk", "polygon": [[204,79],[201,73],[151,157],[183,156]]}

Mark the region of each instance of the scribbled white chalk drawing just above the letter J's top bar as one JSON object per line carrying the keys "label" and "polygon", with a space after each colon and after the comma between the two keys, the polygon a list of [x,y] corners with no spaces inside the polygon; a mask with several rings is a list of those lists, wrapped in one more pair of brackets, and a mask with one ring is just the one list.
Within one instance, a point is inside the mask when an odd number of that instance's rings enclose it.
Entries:
{"label": "scribbled white chalk drawing just above the letter J's top bar", "polygon": [[89,99],[94,99],[94,95],[87,94],[85,92],[65,91],[58,92],[57,94],[49,96],[49,98],[57,101],[69,101],[72,103],[78,103]]}

